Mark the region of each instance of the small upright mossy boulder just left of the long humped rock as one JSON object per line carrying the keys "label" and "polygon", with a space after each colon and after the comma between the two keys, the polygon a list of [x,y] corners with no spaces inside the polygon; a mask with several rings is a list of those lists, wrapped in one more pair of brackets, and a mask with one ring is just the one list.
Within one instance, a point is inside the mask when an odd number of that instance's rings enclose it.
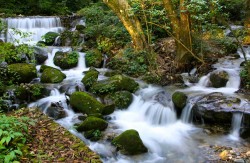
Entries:
{"label": "small upright mossy boulder just left of the long humped rock", "polygon": [[82,78],[82,83],[88,90],[95,82],[97,82],[99,72],[96,69],[90,69],[85,72],[85,76]]}

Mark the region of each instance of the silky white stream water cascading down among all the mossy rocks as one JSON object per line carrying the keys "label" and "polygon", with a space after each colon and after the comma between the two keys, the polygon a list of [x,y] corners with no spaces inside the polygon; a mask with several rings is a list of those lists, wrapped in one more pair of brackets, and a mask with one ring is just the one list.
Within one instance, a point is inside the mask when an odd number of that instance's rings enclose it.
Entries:
{"label": "silky white stream water cascading down among all the mossy rocks", "polygon": [[[44,18],[44,17],[43,17]],[[63,30],[57,18],[31,18],[20,19],[22,23],[15,28],[25,28],[25,31],[32,31],[34,33],[45,34],[48,31],[60,32]],[[8,24],[16,19],[7,20]],[[46,23],[43,23],[45,21]],[[15,22],[14,24],[18,24]],[[30,24],[37,24],[31,26]],[[44,26],[43,26],[44,25]],[[45,27],[46,25],[46,27]],[[14,26],[11,26],[14,27]],[[28,30],[29,29],[29,30]],[[44,30],[46,31],[44,32]],[[39,30],[41,32],[36,32]],[[37,42],[41,39],[41,35],[33,37],[33,41]],[[5,38],[6,39],[6,38]],[[7,36],[7,41],[10,38]],[[25,40],[24,40],[25,41]],[[55,67],[53,63],[54,55],[57,51],[71,51],[70,47],[47,47],[44,48],[48,52],[48,59],[45,65]],[[250,47],[245,47],[247,57],[250,58]],[[57,123],[67,128],[71,133],[82,139],[93,151],[98,153],[103,162],[143,162],[143,163],[173,163],[173,162],[188,162],[197,163],[205,161],[216,161],[219,156],[211,151],[211,146],[221,145],[229,147],[244,146],[247,142],[239,136],[242,127],[243,113],[235,112],[232,117],[231,129],[228,133],[208,134],[203,128],[205,124],[196,125],[193,123],[192,108],[198,96],[207,95],[213,92],[221,92],[227,96],[234,96],[241,99],[241,106],[246,106],[249,99],[241,97],[235,91],[240,86],[240,64],[243,61],[242,52],[239,50],[239,59],[232,59],[230,57],[222,58],[218,63],[213,65],[214,71],[226,71],[229,75],[229,81],[225,87],[213,88],[209,86],[209,76],[200,78],[198,83],[190,83],[185,80],[186,88],[177,88],[174,86],[161,87],[157,85],[149,85],[135,79],[140,89],[133,94],[133,102],[127,109],[115,110],[111,115],[105,118],[109,122],[108,128],[104,131],[104,138],[98,142],[91,142],[84,138],[82,133],[74,129],[74,124],[79,123],[79,116],[82,114],[75,113],[70,105],[67,104],[66,93],[72,93],[78,90],[84,90],[81,80],[84,76],[84,71],[89,68],[85,65],[85,53],[79,53],[78,65],[69,70],[62,70],[66,74],[66,79],[59,84],[46,84],[51,90],[50,96],[40,99],[36,102],[30,103],[29,107],[38,107],[44,113],[51,103],[60,103],[66,111],[67,117],[56,120]],[[37,65],[40,69],[41,65]],[[110,71],[106,68],[97,69],[100,74],[98,80],[106,79],[103,74]],[[192,73],[195,75],[195,69]],[[188,76],[188,73],[183,73],[183,77]],[[39,80],[39,79],[38,79]],[[64,89],[67,88],[67,89]],[[185,92],[188,95],[188,103],[183,109],[180,118],[177,117],[175,108],[171,101],[171,96],[175,91]],[[247,105],[248,107],[249,105]],[[244,108],[250,111],[250,108]],[[108,141],[109,136],[120,134],[125,130],[135,129],[144,145],[149,149],[148,153],[136,156],[122,155],[116,151]]]}

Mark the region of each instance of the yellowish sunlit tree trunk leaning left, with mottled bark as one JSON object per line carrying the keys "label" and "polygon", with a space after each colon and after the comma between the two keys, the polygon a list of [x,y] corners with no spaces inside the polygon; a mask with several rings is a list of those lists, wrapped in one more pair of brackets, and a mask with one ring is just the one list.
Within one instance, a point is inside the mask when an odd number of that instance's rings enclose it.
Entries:
{"label": "yellowish sunlit tree trunk leaning left, with mottled bark", "polygon": [[103,0],[119,17],[127,31],[129,32],[136,50],[147,48],[146,38],[143,33],[141,23],[131,12],[131,7],[127,0]]}

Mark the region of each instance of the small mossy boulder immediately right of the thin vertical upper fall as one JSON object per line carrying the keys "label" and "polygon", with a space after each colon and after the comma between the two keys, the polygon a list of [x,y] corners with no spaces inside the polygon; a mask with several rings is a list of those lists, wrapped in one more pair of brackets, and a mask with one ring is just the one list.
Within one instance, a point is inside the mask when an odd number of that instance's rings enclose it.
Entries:
{"label": "small mossy boulder immediately right of the thin vertical upper fall", "polygon": [[87,67],[101,68],[103,63],[102,53],[95,49],[86,52],[85,55]]}

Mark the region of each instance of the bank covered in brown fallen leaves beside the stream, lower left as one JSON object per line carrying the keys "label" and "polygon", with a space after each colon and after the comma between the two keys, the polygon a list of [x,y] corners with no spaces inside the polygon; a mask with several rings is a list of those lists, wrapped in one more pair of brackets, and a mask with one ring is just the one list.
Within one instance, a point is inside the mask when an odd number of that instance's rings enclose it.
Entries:
{"label": "bank covered in brown fallen leaves beside the stream, lower left", "polygon": [[35,121],[34,126],[29,126],[29,152],[21,158],[21,162],[101,162],[100,157],[82,140],[38,109],[21,109],[12,114]]}

